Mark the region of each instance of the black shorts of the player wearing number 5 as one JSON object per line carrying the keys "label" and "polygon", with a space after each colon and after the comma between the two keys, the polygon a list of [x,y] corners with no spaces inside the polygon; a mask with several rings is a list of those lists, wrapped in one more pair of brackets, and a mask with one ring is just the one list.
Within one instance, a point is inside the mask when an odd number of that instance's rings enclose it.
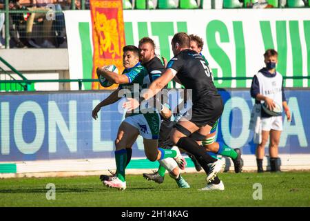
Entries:
{"label": "black shorts of the player wearing number 5", "polygon": [[224,109],[220,95],[204,97],[194,102],[192,108],[187,111],[185,118],[198,127],[214,126]]}

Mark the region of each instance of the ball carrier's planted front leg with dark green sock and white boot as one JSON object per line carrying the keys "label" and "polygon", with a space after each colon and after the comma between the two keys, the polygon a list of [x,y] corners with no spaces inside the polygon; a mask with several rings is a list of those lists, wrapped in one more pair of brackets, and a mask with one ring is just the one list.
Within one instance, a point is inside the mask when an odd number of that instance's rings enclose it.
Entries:
{"label": "ball carrier's planted front leg with dark green sock and white boot", "polygon": [[122,122],[121,126],[118,128],[118,134],[115,140],[115,161],[116,161],[116,175],[112,177],[112,180],[105,180],[103,183],[106,186],[125,189],[125,168],[127,166],[127,151],[126,147],[130,142],[137,137],[138,129],[134,126],[128,124],[127,122]]}

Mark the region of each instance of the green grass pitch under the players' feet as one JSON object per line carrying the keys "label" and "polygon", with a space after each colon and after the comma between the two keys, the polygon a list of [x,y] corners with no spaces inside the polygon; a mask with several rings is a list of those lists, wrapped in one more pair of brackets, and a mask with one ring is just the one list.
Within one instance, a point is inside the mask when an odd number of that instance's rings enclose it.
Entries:
{"label": "green grass pitch under the players' feet", "polygon": [[[185,173],[190,189],[179,189],[169,175],[163,184],[127,175],[127,189],[103,186],[98,176],[14,178],[0,180],[0,206],[310,206],[310,172],[220,173],[225,191],[198,191],[204,173]],[[47,200],[46,185],[56,186]],[[262,200],[257,187],[262,185]],[[256,187],[256,188],[254,188]]]}

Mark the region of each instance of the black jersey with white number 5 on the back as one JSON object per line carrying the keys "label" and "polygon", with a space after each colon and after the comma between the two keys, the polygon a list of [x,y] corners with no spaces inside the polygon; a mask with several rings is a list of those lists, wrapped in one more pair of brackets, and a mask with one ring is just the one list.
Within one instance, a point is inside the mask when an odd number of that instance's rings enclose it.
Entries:
{"label": "black jersey with white number 5 on the back", "polygon": [[168,63],[186,89],[192,89],[193,103],[199,99],[218,96],[212,74],[205,59],[194,50],[182,50]]}

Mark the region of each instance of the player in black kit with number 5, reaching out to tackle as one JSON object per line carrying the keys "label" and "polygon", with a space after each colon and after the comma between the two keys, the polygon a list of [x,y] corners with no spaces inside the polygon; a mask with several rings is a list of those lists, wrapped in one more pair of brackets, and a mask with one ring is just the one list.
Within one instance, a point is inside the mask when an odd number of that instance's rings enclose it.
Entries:
{"label": "player in black kit with number 5, reaching out to tackle", "polygon": [[[190,50],[190,38],[180,32],[172,39],[172,51],[174,57],[167,64],[165,73],[158,77],[149,86],[147,93],[141,95],[141,100],[129,99],[123,106],[131,111],[140,105],[143,100],[154,97],[172,79],[183,84],[187,90],[192,90],[192,109],[182,117],[172,131],[171,140],[179,148],[192,153],[207,173],[207,182],[211,182],[217,173],[223,168],[224,162],[214,159],[197,141],[204,140],[223,113],[223,101],[214,86],[211,71],[205,64],[205,60],[196,51]],[[196,135],[191,137],[192,133]],[[207,170],[209,169],[209,171]]]}

